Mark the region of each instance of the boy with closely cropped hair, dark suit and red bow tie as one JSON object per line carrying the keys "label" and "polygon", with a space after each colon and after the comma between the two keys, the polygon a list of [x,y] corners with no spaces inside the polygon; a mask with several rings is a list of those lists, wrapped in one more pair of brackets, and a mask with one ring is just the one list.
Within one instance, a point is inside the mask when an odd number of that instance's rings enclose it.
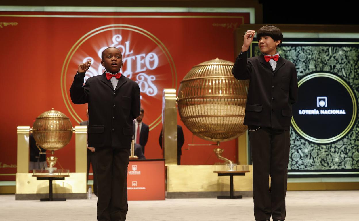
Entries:
{"label": "boy with closely cropped hair, dark suit and red bow tie", "polygon": [[83,85],[90,61],[79,64],[70,88],[74,104],[88,103],[88,146],[95,148],[97,220],[126,220],[127,167],[133,120],[140,115],[140,88],[121,75],[122,54],[106,48],[101,55],[106,72]]}

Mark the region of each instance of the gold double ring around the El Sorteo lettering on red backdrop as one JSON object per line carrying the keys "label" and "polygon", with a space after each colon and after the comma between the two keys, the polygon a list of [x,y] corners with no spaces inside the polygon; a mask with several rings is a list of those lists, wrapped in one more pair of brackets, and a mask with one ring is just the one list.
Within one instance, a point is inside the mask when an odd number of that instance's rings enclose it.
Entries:
{"label": "gold double ring around the El Sorteo lettering on red backdrop", "polygon": [[[66,87],[67,69],[69,67],[69,63],[71,61],[71,58],[73,57],[76,50],[84,42],[86,42],[88,39],[90,39],[94,35],[97,35],[97,34],[102,33],[102,32],[106,32],[108,30],[118,30],[118,29],[120,29],[120,30],[130,30],[130,31],[133,31],[133,32],[137,32],[139,34],[144,35],[145,37],[152,40],[155,44],[157,44],[157,46],[161,49],[161,51],[165,55],[165,57],[166,57],[166,59],[168,61],[168,64],[169,64],[169,66],[171,68],[172,88],[177,87],[177,71],[176,71],[176,66],[174,64],[173,58],[172,58],[171,54],[169,53],[168,49],[165,47],[165,45],[155,35],[151,34],[147,30],[142,29],[140,27],[136,27],[134,25],[127,25],[127,24],[111,24],[111,25],[104,25],[104,26],[95,28],[95,29],[91,30],[90,32],[86,33],[85,35],[83,35],[71,47],[70,51],[67,53],[67,56],[65,58],[65,61],[64,61],[63,65],[62,65],[62,69],[61,69],[61,94],[62,94],[62,99],[64,99],[65,106],[66,106],[67,110],[70,112],[70,115],[78,123],[83,121],[83,120],[81,119],[81,117],[74,110],[74,108],[72,106],[72,102],[69,99],[68,90],[67,90],[67,87]],[[162,116],[162,114],[160,114],[151,124],[149,124],[149,130],[154,129],[157,125],[160,124],[160,122],[162,121],[161,116]]]}

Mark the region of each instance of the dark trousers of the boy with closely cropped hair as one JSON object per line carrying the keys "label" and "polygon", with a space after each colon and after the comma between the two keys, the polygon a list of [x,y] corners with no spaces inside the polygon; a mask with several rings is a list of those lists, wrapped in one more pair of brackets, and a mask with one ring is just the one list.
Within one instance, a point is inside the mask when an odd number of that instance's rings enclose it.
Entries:
{"label": "dark trousers of the boy with closely cropped hair", "polygon": [[97,220],[125,221],[130,149],[95,148]]}

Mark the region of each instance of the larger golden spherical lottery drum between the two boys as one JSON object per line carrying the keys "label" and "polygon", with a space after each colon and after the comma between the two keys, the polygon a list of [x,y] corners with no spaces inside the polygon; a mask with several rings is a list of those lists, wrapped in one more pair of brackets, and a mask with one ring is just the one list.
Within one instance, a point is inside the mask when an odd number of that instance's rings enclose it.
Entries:
{"label": "larger golden spherical lottery drum between the two boys", "polygon": [[186,127],[209,141],[237,138],[243,125],[247,81],[232,75],[233,62],[213,59],[194,66],[178,90],[178,111]]}

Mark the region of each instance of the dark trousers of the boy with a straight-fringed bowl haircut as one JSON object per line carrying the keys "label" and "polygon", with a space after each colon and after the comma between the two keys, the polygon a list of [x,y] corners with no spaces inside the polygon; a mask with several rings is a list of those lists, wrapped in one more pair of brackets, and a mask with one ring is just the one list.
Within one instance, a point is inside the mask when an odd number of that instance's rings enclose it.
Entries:
{"label": "dark trousers of the boy with a straight-fringed bowl haircut", "polygon": [[248,126],[253,162],[254,216],[256,221],[270,219],[271,216],[273,220],[284,220],[289,130],[258,128]]}

